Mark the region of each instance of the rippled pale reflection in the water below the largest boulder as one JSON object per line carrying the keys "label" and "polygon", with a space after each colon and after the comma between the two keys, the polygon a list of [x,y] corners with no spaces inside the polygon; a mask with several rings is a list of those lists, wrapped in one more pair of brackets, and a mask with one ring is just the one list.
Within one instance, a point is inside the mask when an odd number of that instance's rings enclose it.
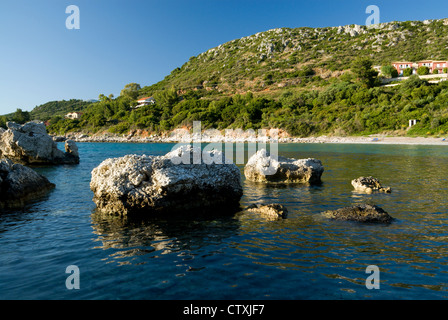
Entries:
{"label": "rippled pale reflection in the water below the largest boulder", "polygon": [[[219,245],[239,228],[237,220],[226,216],[202,217],[123,217],[94,212],[92,228],[98,235],[96,249],[113,252],[110,259],[126,263],[146,263],[159,255],[201,250]],[[145,256],[143,259],[130,257]],[[121,263],[121,262],[120,262]]]}

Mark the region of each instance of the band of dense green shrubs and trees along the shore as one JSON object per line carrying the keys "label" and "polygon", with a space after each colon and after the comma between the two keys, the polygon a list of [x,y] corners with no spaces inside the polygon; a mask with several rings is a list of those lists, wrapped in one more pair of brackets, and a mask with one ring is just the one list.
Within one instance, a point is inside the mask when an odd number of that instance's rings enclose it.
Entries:
{"label": "band of dense green shrubs and trees along the shore", "polygon": [[448,132],[448,82],[430,84],[418,76],[390,88],[334,79],[321,90],[284,90],[277,98],[251,92],[204,98],[200,91],[178,95],[173,88],[155,92],[154,97],[155,105],[138,109],[127,96],[105,99],[85,109],[80,120],[51,118],[48,128],[57,134],[98,130],[127,134],[135,129],[155,133],[201,121],[204,129],[280,128],[293,136],[366,135],[403,134],[409,120],[417,119],[408,134]]}

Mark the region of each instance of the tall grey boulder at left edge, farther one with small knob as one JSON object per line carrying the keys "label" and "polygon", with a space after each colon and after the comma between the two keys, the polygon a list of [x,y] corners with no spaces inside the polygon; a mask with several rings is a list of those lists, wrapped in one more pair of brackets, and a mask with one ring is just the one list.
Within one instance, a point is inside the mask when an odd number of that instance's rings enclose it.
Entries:
{"label": "tall grey boulder at left edge, farther one with small knob", "polygon": [[66,152],[58,149],[47,134],[43,123],[28,122],[19,125],[7,123],[8,130],[0,136],[0,156],[22,164],[77,164],[78,148],[66,141]]}

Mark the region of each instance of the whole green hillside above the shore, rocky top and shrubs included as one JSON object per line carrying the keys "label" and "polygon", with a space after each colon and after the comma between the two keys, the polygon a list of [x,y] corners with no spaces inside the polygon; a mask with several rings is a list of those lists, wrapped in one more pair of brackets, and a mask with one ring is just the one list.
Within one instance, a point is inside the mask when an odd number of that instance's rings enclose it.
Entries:
{"label": "whole green hillside above the shore, rocky top and shrubs included", "polygon": [[[78,120],[52,115],[48,130],[150,135],[200,120],[204,129],[278,128],[303,137],[444,135],[448,81],[415,76],[383,87],[362,78],[397,60],[448,60],[447,44],[448,19],[269,30],[191,57],[154,85],[129,84],[115,99],[101,94],[71,110],[83,112]],[[149,96],[154,105],[136,107]],[[417,124],[408,128],[411,119]]]}

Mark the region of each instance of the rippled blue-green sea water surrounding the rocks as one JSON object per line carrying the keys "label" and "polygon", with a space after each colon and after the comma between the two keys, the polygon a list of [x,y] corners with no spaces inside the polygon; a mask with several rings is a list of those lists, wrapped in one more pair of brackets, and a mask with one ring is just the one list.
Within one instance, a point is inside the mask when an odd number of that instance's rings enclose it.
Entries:
{"label": "rippled blue-green sea water surrounding the rocks", "polygon": [[[260,186],[243,177],[242,206],[278,202],[288,219],[253,214],[123,219],[94,213],[90,172],[129,153],[162,155],[172,144],[79,143],[77,166],[37,168],[56,189],[0,215],[0,299],[446,299],[448,152],[444,146],[283,144],[314,157],[319,186]],[[241,169],[243,166],[240,166]],[[391,194],[362,195],[372,175]],[[375,203],[390,225],[334,222],[327,209]],[[68,290],[66,267],[80,270]],[[380,269],[368,290],[366,268]]]}

